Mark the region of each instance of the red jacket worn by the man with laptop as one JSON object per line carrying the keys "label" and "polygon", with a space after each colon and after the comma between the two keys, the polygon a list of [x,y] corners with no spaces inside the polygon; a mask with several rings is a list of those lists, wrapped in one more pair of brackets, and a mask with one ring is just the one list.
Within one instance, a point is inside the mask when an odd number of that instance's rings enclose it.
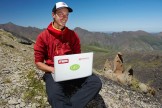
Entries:
{"label": "red jacket worn by the man with laptop", "polygon": [[54,56],[80,52],[80,40],[77,34],[67,27],[63,31],[57,30],[52,23],[38,35],[34,45],[35,63],[45,61],[49,66],[54,66]]}

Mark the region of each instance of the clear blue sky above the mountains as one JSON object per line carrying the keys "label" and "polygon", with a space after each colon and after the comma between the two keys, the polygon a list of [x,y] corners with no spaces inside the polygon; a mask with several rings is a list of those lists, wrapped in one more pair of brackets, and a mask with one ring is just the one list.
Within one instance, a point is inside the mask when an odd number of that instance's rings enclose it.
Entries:
{"label": "clear blue sky above the mountains", "polygon": [[[46,28],[60,0],[0,0],[0,24]],[[73,9],[67,27],[88,31],[162,32],[162,0],[61,0]]]}

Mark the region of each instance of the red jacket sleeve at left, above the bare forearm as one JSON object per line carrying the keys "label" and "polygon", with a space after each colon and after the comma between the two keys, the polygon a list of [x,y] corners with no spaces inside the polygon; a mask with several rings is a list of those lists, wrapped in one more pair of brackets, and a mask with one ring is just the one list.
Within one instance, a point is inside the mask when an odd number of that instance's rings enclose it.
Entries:
{"label": "red jacket sleeve at left, above the bare forearm", "polygon": [[34,58],[35,63],[36,62],[44,62],[46,54],[47,54],[47,48],[45,44],[45,33],[41,33],[38,35],[36,43],[34,44]]}

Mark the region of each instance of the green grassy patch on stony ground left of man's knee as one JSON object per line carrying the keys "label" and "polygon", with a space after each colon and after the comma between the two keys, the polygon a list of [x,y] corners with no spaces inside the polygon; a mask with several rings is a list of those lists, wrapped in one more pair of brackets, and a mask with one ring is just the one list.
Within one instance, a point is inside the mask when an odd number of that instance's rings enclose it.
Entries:
{"label": "green grassy patch on stony ground left of man's knee", "polygon": [[36,73],[34,70],[29,71],[27,74],[28,89],[24,92],[23,99],[26,102],[39,103],[41,108],[44,108],[46,106],[45,97],[47,97],[45,93],[45,86],[43,85],[43,82],[35,76]]}

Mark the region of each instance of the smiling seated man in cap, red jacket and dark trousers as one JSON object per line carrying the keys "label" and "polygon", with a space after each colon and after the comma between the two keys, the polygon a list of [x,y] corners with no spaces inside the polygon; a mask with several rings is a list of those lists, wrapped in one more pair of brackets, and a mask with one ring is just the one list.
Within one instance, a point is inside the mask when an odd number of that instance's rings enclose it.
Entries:
{"label": "smiling seated man in cap, red jacket and dark trousers", "polygon": [[[62,82],[55,82],[52,78],[54,56],[81,53],[77,34],[65,26],[72,11],[66,3],[57,2],[52,9],[54,21],[38,35],[34,45],[35,64],[45,72],[43,78],[52,108],[84,108],[102,86],[100,79],[95,75]],[[69,96],[66,92],[71,86],[78,89]]]}

